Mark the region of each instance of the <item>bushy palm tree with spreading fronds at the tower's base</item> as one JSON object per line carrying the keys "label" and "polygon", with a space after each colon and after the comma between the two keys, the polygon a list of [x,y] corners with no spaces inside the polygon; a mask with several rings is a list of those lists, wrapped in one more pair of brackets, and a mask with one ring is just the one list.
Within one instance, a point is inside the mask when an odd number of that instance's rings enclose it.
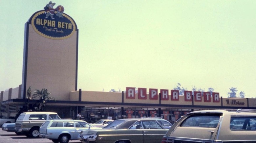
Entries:
{"label": "bushy palm tree with spreading fronds at the tower's base", "polygon": [[48,100],[55,100],[54,97],[49,96],[51,93],[48,92],[47,89],[43,88],[41,91],[38,89],[35,90],[36,91],[34,91],[35,94],[32,95],[32,99],[39,100],[39,107],[35,107],[35,110],[42,111]]}

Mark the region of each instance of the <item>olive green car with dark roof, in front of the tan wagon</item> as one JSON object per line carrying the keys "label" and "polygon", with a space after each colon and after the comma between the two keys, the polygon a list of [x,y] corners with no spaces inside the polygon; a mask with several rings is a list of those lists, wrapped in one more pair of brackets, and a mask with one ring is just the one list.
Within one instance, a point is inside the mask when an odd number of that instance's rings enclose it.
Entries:
{"label": "olive green car with dark roof, in front of the tan wagon", "polygon": [[82,143],[157,143],[168,129],[154,118],[118,119],[101,130],[86,130],[78,135]]}

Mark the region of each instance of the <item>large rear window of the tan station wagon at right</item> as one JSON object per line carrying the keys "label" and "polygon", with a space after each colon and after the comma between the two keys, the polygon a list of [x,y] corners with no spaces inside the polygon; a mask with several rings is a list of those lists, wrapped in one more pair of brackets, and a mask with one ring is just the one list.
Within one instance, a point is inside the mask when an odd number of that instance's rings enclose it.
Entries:
{"label": "large rear window of the tan station wagon at right", "polygon": [[181,123],[181,127],[216,128],[222,114],[191,115]]}

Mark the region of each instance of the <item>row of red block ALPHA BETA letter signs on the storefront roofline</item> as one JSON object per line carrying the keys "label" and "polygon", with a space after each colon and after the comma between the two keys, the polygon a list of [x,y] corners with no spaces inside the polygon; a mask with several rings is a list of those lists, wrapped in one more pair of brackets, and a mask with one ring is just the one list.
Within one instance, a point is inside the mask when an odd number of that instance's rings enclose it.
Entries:
{"label": "row of red block ALPHA BETA letter signs on the storefront roofline", "polygon": [[[169,100],[169,90],[160,89],[161,100]],[[220,94],[217,92],[212,92],[212,98],[210,92],[194,91],[184,91],[184,100],[192,101],[192,96],[194,96],[195,102],[220,102]],[[135,87],[126,87],[126,99],[135,99]],[[147,99],[147,88],[138,88],[138,99]],[[212,99],[212,101],[211,101]],[[158,89],[149,88],[149,100],[158,100]],[[179,101],[179,90],[171,90],[171,101]]]}

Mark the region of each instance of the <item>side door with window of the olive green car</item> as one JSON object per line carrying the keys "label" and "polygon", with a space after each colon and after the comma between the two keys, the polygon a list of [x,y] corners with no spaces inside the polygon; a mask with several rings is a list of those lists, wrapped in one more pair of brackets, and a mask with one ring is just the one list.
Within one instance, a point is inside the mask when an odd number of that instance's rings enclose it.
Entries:
{"label": "side door with window of the olive green car", "polygon": [[141,121],[143,130],[143,143],[161,142],[162,137],[168,131],[160,126],[160,123],[155,120]]}

